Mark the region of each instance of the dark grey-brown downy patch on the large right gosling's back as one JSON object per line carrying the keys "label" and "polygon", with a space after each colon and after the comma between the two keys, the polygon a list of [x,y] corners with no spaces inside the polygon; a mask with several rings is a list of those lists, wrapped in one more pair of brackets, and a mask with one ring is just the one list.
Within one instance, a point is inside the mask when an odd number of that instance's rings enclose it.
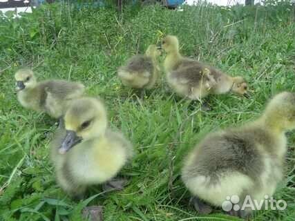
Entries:
{"label": "dark grey-brown downy patch on the large right gosling's back", "polygon": [[195,157],[189,172],[213,176],[240,172],[257,178],[263,166],[262,157],[255,142],[260,128],[251,130],[231,129],[209,134],[194,151]]}

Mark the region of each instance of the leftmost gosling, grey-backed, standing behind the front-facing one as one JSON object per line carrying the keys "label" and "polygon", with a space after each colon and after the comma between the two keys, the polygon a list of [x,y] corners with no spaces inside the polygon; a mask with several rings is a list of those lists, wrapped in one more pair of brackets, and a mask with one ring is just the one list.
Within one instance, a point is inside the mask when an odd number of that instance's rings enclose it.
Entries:
{"label": "leftmost gosling, grey-backed, standing behind the front-facing one", "polygon": [[53,118],[59,118],[71,100],[81,97],[84,85],[63,80],[47,80],[37,82],[28,68],[15,73],[17,99],[24,108],[44,112]]}

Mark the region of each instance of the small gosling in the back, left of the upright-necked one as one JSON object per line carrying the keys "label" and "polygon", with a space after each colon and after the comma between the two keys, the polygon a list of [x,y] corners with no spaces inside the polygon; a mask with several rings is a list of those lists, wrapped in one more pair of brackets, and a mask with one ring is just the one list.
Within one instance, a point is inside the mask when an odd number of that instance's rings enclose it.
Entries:
{"label": "small gosling in the back, left of the upright-necked one", "polygon": [[145,55],[134,55],[121,66],[117,75],[124,86],[151,89],[159,77],[160,67],[157,57],[161,54],[158,47],[150,45]]}

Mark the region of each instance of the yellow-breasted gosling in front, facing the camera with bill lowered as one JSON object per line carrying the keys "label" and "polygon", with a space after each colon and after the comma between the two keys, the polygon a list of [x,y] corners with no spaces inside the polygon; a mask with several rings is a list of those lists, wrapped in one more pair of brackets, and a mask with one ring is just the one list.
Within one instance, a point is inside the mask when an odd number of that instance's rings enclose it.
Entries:
{"label": "yellow-breasted gosling in front, facing the camera with bill lowered", "polygon": [[122,133],[108,128],[104,104],[91,97],[70,104],[50,148],[57,183],[77,198],[89,185],[111,182],[133,155]]}

